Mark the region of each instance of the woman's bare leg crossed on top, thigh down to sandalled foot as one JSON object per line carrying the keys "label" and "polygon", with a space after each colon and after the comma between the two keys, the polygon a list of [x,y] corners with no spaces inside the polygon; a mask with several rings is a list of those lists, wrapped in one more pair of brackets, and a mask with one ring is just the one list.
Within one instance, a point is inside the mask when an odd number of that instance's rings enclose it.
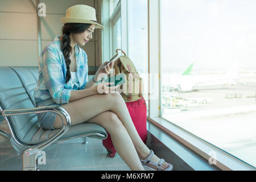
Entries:
{"label": "woman's bare leg crossed on top, thigh down to sandalled foot", "polygon": [[[72,125],[77,125],[79,123],[88,121],[89,119],[95,117],[100,113],[104,113],[105,111],[112,111],[114,114],[117,115],[119,120],[123,123],[123,126],[125,126],[135,146],[135,149],[138,152],[139,158],[145,159],[149,155],[150,150],[147,148],[147,146],[143,143],[143,141],[139,137],[137,130],[135,129],[135,126],[133,124],[133,121],[131,120],[125,101],[123,101],[123,98],[118,92],[113,94],[97,94],[94,96],[85,97],[85,98],[82,98],[81,100],[77,100],[77,101],[70,102],[69,104],[65,104],[63,105],[63,107],[68,111],[69,115],[71,115]],[[92,121],[96,121],[96,120],[92,119],[91,122]],[[54,127],[57,129],[61,127],[61,125],[62,125],[61,120],[57,116]],[[118,140],[118,137],[117,137],[117,140]],[[116,143],[117,144],[119,143],[120,146],[123,145],[123,147],[125,147],[124,143],[122,142],[117,141]],[[119,150],[119,152],[120,151],[122,150]],[[120,154],[119,152],[118,154],[121,157],[124,156],[124,154]],[[154,160],[157,163],[160,159],[154,156],[152,160]],[[162,169],[166,167],[168,167],[167,163],[164,163]]]}

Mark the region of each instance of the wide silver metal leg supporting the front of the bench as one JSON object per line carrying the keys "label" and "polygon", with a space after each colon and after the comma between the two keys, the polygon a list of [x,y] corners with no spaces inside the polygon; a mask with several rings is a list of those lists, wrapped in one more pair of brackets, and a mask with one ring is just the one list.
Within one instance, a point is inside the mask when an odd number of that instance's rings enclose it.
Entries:
{"label": "wide silver metal leg supporting the front of the bench", "polygon": [[26,150],[22,154],[23,171],[38,171],[38,164],[46,164],[46,152],[38,149]]}

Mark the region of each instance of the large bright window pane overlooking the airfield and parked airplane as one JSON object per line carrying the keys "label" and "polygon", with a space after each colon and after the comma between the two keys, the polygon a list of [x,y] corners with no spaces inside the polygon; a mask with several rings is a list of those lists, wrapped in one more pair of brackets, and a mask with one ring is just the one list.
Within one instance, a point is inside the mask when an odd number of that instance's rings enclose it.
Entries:
{"label": "large bright window pane overlooking the airfield and parked airplane", "polygon": [[160,116],[256,167],[256,2],[160,1]]}

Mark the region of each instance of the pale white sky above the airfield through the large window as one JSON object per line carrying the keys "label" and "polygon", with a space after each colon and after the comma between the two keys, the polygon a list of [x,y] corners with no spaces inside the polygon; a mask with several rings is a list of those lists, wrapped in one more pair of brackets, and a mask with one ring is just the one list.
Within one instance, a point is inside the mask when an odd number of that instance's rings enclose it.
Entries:
{"label": "pale white sky above the airfield through the large window", "polygon": [[162,0],[163,72],[256,70],[255,0]]}

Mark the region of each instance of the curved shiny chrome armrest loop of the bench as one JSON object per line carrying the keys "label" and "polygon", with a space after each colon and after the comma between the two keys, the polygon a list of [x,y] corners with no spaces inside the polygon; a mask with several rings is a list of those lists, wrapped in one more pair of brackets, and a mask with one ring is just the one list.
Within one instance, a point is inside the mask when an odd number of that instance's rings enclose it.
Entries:
{"label": "curved shiny chrome armrest loop of the bench", "polygon": [[[5,119],[7,119],[6,117],[12,116],[12,115],[36,114],[36,113],[46,113],[46,112],[53,112],[53,113],[58,114],[62,120],[62,127],[59,132],[57,132],[55,135],[50,137],[48,140],[46,140],[40,144],[37,144],[35,146],[26,145],[26,144],[24,145],[23,143],[20,143],[16,139],[13,129],[9,126],[10,131],[11,131],[11,137],[14,139],[14,142],[16,144],[18,144],[20,147],[30,148],[30,150],[34,150],[34,149],[43,150],[44,148],[46,148],[47,146],[49,146],[50,144],[55,142],[57,139],[62,137],[68,131],[69,127],[71,127],[70,115],[63,107],[41,106],[41,107],[34,107],[34,108],[30,108],[30,109],[6,109],[6,110],[3,110],[1,114],[3,115],[3,117],[5,117]],[[6,121],[9,122],[8,119]],[[65,125],[64,125],[64,121],[65,121]]]}

